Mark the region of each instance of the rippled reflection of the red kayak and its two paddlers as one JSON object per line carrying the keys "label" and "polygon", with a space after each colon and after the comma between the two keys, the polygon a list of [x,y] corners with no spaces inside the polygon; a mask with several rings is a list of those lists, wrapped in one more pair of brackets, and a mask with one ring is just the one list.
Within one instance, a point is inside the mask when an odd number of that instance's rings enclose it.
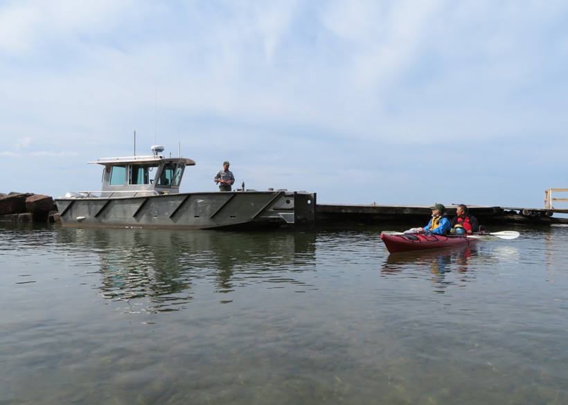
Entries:
{"label": "rippled reflection of the red kayak and its two paddlers", "polygon": [[[459,282],[469,282],[474,278],[465,277],[472,260],[479,255],[475,245],[465,246],[461,249],[436,249],[432,251],[418,251],[391,254],[385,260],[381,276],[394,276],[407,273],[409,277],[418,276],[427,269],[432,273],[434,292],[443,294],[449,285],[456,284],[456,280],[447,279],[447,273],[455,271],[461,273]],[[463,285],[460,283],[460,285]]]}

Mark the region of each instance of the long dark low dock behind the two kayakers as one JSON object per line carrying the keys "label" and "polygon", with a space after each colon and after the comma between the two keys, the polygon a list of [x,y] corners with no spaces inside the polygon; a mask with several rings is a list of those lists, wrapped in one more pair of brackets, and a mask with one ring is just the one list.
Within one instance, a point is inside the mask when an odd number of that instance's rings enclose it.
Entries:
{"label": "long dark low dock behind the two kayakers", "polygon": [[[456,215],[457,205],[446,206],[447,215]],[[555,214],[568,214],[568,210],[540,208],[512,208],[499,206],[468,206],[470,214],[479,224],[492,225],[543,225],[568,224],[568,218]],[[317,204],[318,225],[361,224],[423,226],[432,215],[429,206],[387,206],[378,204]]]}

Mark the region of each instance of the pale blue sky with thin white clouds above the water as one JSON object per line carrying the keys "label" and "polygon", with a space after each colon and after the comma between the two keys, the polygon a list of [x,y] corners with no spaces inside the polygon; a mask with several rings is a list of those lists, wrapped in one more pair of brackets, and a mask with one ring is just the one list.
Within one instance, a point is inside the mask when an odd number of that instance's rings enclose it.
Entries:
{"label": "pale blue sky with thin white clouds above the water", "polygon": [[87,162],[163,145],[197,162],[182,192],[228,160],[319,204],[542,208],[568,188],[566,21],[564,0],[0,0],[0,192],[100,190]]}

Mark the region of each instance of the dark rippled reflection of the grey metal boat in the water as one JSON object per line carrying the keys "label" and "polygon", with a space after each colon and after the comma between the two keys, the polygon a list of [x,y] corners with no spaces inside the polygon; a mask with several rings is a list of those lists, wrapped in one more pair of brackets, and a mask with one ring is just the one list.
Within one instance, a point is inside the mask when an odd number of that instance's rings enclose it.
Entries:
{"label": "dark rippled reflection of the grey metal boat in the water", "polygon": [[257,282],[301,285],[293,273],[314,268],[313,233],[62,228],[57,240],[98,258],[104,298],[145,298],[148,312],[182,309],[211,286],[229,294]]}

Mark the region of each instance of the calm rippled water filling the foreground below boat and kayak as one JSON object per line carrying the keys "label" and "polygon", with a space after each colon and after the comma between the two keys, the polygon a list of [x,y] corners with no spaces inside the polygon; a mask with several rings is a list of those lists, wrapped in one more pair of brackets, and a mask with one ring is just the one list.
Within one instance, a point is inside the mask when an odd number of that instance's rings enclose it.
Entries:
{"label": "calm rippled water filling the foreground below boat and kayak", "polygon": [[0,404],[567,404],[568,228],[507,229],[0,224]]}

